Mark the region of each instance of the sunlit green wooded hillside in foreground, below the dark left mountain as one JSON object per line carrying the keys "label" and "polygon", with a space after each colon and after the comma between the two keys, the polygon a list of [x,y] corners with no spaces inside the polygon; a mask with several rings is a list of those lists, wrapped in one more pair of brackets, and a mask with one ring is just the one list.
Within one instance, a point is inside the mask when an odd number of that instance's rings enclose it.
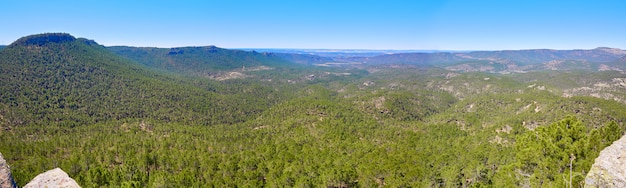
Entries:
{"label": "sunlit green wooded hillside in foreground, below the dark left mountain", "polygon": [[[518,156],[538,146],[517,140],[574,124],[584,142],[598,139],[597,132],[621,134],[624,105],[561,97],[556,88],[518,79],[381,70],[293,88],[298,97],[232,125],[142,118],[73,129],[20,126],[0,134],[0,146],[20,156],[11,161],[16,178],[38,173],[24,169],[58,165],[84,186],[560,186],[550,177],[567,174],[559,171],[567,164],[554,155]],[[37,136],[19,139],[28,134]],[[588,171],[610,141],[580,146],[575,172]],[[84,148],[95,152],[78,152]],[[35,151],[41,154],[29,155]],[[550,166],[533,173],[526,163]]]}

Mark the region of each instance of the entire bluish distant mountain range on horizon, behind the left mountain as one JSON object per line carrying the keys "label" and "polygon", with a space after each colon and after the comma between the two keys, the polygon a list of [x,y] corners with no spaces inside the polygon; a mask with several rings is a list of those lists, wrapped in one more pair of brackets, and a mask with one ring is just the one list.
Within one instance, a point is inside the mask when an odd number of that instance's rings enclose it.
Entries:
{"label": "entire bluish distant mountain range on horizon, behind the left mountain", "polygon": [[[5,46],[0,46],[0,49]],[[230,50],[215,46],[149,48],[105,47],[114,54],[148,67],[211,76],[242,67],[284,67],[292,63],[320,66],[376,66],[404,64],[441,67],[464,72],[510,73],[540,70],[625,70],[626,51],[598,47],[590,50],[505,51],[368,51],[251,49]],[[245,63],[244,63],[245,62]]]}

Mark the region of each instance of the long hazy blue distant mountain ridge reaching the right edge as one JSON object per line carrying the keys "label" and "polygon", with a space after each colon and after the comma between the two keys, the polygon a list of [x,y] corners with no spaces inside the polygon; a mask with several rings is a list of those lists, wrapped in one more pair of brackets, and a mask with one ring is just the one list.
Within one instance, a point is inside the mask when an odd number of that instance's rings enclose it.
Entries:
{"label": "long hazy blue distant mountain ridge reaching the right edge", "polygon": [[[346,62],[369,65],[409,64],[444,67],[463,72],[525,72],[536,70],[621,70],[626,51],[615,48],[592,50],[506,50],[476,52],[400,53],[374,57],[353,57]],[[602,64],[605,63],[605,64]],[[608,68],[607,68],[608,66]]]}

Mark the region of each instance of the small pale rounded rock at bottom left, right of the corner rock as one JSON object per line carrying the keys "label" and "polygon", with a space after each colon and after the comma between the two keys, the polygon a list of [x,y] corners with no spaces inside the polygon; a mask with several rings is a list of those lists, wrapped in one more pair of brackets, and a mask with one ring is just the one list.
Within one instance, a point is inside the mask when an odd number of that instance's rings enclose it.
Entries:
{"label": "small pale rounded rock at bottom left, right of the corner rock", "polygon": [[37,187],[66,187],[66,188],[74,188],[79,187],[78,183],[74,181],[74,179],[70,178],[67,173],[65,173],[60,168],[55,168],[52,170],[48,170],[42,174],[37,175],[33,180],[28,182],[24,186],[24,188],[37,188]]}

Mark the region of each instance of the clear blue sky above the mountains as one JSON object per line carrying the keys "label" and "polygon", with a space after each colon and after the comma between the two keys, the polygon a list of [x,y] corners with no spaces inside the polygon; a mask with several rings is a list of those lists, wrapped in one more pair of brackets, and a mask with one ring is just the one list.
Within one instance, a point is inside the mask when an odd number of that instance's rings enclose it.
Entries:
{"label": "clear blue sky above the mountains", "polygon": [[626,49],[623,0],[0,0],[0,44],[396,50]]}

